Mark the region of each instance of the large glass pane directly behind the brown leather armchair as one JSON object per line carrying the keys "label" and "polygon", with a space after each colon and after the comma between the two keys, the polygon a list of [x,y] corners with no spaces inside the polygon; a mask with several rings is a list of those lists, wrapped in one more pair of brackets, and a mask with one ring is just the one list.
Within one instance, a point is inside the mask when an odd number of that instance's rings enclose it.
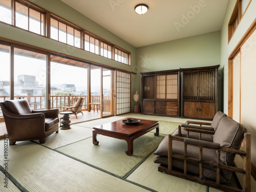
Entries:
{"label": "large glass pane directly behind the brown leather armchair", "polygon": [[46,109],[46,55],[14,49],[14,99],[27,99],[32,109]]}

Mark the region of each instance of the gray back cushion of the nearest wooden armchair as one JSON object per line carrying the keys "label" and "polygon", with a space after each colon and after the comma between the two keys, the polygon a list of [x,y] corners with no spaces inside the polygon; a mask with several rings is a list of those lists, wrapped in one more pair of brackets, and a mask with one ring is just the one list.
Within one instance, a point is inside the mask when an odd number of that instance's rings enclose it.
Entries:
{"label": "gray back cushion of the nearest wooden armchair", "polygon": [[[245,129],[244,126],[230,117],[223,117],[219,123],[218,129],[214,134],[214,142],[220,146],[229,148],[240,148]],[[220,159],[226,165],[232,165],[233,155],[221,152]]]}

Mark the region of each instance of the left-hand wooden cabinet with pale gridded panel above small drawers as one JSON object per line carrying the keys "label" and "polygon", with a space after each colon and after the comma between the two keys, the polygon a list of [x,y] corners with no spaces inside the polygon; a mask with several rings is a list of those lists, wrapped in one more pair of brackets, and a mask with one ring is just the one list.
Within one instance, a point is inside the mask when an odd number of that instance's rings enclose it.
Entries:
{"label": "left-hand wooden cabinet with pale gridded panel above small drawers", "polygon": [[142,114],[180,116],[180,70],[141,73]]}

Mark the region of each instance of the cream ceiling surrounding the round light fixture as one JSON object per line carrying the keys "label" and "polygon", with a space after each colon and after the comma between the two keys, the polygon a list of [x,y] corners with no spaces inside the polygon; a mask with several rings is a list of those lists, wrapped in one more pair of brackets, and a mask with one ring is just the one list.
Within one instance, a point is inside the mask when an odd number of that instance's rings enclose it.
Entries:
{"label": "cream ceiling surrounding the round light fixture", "polygon": [[[134,47],[221,30],[228,0],[61,0]],[[137,4],[148,11],[138,15]]]}

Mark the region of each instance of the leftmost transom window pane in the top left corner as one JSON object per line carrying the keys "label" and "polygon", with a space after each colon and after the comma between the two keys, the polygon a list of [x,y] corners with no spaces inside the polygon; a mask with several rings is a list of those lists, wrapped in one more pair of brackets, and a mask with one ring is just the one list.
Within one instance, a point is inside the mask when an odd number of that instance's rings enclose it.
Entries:
{"label": "leftmost transom window pane in the top left corner", "polygon": [[12,24],[11,0],[0,0],[0,21]]}

